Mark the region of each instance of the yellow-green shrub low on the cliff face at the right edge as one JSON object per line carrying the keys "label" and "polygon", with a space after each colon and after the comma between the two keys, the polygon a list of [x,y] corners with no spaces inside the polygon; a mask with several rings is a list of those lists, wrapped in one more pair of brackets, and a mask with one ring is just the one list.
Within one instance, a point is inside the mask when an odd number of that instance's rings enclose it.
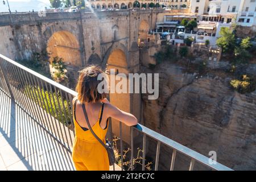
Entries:
{"label": "yellow-green shrub low on the cliff face at the right edge", "polygon": [[234,90],[241,94],[250,93],[255,90],[255,80],[247,75],[242,75],[240,79],[230,81],[230,85]]}

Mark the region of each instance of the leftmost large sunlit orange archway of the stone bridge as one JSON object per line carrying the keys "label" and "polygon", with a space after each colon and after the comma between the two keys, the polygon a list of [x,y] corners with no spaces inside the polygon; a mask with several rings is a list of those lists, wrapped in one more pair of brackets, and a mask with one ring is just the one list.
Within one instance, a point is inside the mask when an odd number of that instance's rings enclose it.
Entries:
{"label": "leftmost large sunlit orange archway of the stone bridge", "polygon": [[50,62],[54,57],[61,57],[66,64],[75,67],[82,65],[79,42],[69,31],[55,32],[47,42],[47,52]]}

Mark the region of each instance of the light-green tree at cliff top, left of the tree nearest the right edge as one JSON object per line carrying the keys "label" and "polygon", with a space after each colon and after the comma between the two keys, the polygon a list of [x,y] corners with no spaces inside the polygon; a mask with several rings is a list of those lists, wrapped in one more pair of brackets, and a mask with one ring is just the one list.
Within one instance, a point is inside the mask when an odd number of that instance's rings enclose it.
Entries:
{"label": "light-green tree at cliff top, left of the tree nearest the right edge", "polygon": [[235,35],[228,27],[221,27],[220,38],[216,40],[216,45],[222,48],[223,52],[231,52],[236,45]]}

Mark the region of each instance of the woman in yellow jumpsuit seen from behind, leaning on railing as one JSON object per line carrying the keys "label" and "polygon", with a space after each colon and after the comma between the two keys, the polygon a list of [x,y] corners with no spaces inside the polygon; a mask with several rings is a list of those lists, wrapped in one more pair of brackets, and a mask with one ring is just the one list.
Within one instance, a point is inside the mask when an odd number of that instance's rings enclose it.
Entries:
{"label": "woman in yellow jumpsuit seen from behind, leaning on railing", "polygon": [[[133,114],[126,113],[110,104],[106,93],[98,92],[100,74],[105,74],[100,68],[90,66],[80,71],[77,82],[77,97],[73,99],[73,122],[75,125],[75,142],[73,144],[72,159],[78,171],[108,171],[109,159],[106,148],[93,136],[88,129],[82,104],[85,105],[90,126],[94,133],[106,143],[108,118],[112,117],[127,126],[137,125]],[[105,77],[106,78],[106,77]]]}

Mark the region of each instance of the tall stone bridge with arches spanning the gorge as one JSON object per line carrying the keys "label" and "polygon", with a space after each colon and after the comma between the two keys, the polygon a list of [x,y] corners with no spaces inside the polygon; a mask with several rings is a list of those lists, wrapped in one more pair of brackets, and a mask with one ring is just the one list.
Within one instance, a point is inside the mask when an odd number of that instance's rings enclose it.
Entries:
{"label": "tall stone bridge with arches spanning the gorge", "polygon": [[[147,39],[163,10],[120,10],[76,13],[0,15],[0,53],[13,60],[30,59],[47,51],[49,60],[61,57],[69,76],[88,64],[115,68],[119,73],[139,71],[138,39]],[[108,67],[106,67],[108,65]],[[110,95],[119,108],[141,118],[140,94]]]}

